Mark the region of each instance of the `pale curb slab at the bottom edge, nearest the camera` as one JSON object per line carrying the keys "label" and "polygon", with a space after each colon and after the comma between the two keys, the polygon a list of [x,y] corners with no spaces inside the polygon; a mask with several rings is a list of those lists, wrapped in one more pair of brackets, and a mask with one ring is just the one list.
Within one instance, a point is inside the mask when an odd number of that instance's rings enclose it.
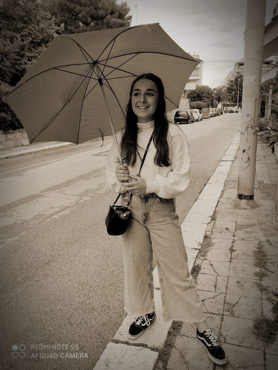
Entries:
{"label": "pale curb slab at the bottom edge, nearest the camera", "polygon": [[148,348],[109,342],[94,370],[146,370],[153,369],[158,352]]}

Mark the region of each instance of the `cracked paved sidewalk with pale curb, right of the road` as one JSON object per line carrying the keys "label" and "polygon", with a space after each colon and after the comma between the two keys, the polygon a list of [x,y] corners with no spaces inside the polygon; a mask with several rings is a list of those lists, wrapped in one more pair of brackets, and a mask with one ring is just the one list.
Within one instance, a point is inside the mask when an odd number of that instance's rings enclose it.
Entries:
{"label": "cracked paved sidewalk with pale curb, right of the road", "polygon": [[[133,318],[126,317],[95,370],[278,368],[278,232],[273,229],[278,164],[268,145],[258,143],[258,207],[236,208],[239,134],[181,225],[189,269],[228,364],[209,360],[194,324],[163,322],[155,268],[156,322],[129,341],[126,332]],[[271,335],[273,343],[267,345]]]}

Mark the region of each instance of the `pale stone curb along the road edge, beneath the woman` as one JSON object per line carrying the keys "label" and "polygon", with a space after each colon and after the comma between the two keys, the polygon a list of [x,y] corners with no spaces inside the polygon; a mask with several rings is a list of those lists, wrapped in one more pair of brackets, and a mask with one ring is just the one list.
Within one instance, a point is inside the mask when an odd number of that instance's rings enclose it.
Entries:
{"label": "pale stone curb along the road edge, beneath the woman", "polygon": [[[227,149],[224,157],[221,159],[220,164],[216,167],[211,178],[208,180],[206,186],[203,188],[201,194],[198,196],[198,199],[195,201],[185,219],[181,223],[183,240],[186,253],[188,255],[189,271],[191,271],[192,266],[194,265],[196,256],[201,248],[201,243],[206,234],[206,229],[208,228],[211,217],[220,199],[226,178],[239,148],[239,140],[240,130],[234,137],[234,140]],[[159,287],[157,268],[153,270],[153,279],[154,287]],[[155,293],[156,292],[158,292],[158,290],[155,289]],[[158,295],[156,295],[156,297],[158,297]],[[156,306],[159,315],[161,314],[160,310],[162,312],[162,307],[160,307],[161,303],[158,301],[158,299],[156,299]],[[138,339],[132,341],[135,344],[132,345],[128,338],[123,336],[123,334],[126,333],[126,327],[128,326],[128,322],[130,323],[130,319],[131,318],[129,316],[125,317],[113,338],[113,340],[117,342],[129,342],[129,344],[109,342],[93,369],[153,370],[155,368],[159,357],[158,352],[150,350],[146,347],[138,347],[138,343],[144,344],[144,346],[161,349],[167,337],[168,329],[171,327],[172,323],[164,323],[163,320],[159,320],[156,322],[156,326],[152,326],[148,329],[148,335],[146,336],[145,340],[143,333],[140,337],[140,340]],[[142,357],[139,357],[138,359],[139,349],[142,351],[140,353],[144,354],[145,360],[148,361],[148,367],[146,367],[146,364],[145,367],[142,367]],[[130,367],[130,358],[134,359],[132,367]]]}

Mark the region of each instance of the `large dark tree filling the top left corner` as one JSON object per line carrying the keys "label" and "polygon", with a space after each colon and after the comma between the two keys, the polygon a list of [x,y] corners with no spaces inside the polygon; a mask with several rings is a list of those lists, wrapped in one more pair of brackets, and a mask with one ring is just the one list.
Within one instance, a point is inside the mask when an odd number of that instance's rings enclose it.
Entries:
{"label": "large dark tree filling the top left corner", "polygon": [[4,0],[0,19],[0,36],[16,54],[10,76],[14,86],[56,36],[57,27],[37,0]]}

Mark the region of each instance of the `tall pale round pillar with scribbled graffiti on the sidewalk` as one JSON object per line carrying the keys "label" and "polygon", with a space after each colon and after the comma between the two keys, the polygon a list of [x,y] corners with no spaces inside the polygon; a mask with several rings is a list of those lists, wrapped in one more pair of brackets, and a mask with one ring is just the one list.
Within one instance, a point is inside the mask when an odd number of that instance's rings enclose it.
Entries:
{"label": "tall pale round pillar with scribbled graffiti on the sidewalk", "polygon": [[265,7],[266,0],[247,0],[237,194],[247,201],[254,199],[257,136],[250,126],[259,120]]}

